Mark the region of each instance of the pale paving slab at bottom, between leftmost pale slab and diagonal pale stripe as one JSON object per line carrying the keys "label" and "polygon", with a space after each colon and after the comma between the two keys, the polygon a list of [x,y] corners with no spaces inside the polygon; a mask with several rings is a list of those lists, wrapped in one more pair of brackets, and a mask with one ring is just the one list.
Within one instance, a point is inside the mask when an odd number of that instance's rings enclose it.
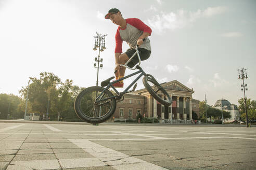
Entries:
{"label": "pale paving slab at bottom, between leftmost pale slab and diagonal pale stripe", "polygon": [[104,162],[97,158],[60,159],[62,168],[105,166]]}

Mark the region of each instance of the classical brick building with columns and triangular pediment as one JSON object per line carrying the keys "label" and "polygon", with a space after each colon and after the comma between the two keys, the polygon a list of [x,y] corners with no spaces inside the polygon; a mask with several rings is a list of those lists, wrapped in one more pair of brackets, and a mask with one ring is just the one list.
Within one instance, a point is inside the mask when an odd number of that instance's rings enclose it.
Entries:
{"label": "classical brick building with columns and triangular pediment", "polygon": [[138,113],[145,117],[159,120],[192,120],[192,94],[184,84],[173,80],[161,84],[172,97],[172,105],[166,107],[153,98],[147,89],[140,89],[124,95],[124,100],[117,103],[115,120],[136,119]]}

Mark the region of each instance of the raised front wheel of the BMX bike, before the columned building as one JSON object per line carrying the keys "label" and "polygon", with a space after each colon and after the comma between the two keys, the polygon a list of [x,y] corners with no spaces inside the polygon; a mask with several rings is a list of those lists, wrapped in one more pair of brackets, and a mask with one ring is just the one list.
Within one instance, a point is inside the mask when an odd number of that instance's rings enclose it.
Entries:
{"label": "raised front wheel of the BMX bike, before the columned building", "polygon": [[[157,82],[157,80],[152,75],[145,75],[143,78],[143,84],[145,88],[148,90],[148,92],[161,104],[164,106],[170,106],[172,104],[172,99],[170,95],[167,93],[167,91],[164,90],[164,88]],[[157,89],[157,90],[155,90]],[[157,93],[161,92],[161,93]],[[160,95],[164,95],[164,97],[161,97]]]}

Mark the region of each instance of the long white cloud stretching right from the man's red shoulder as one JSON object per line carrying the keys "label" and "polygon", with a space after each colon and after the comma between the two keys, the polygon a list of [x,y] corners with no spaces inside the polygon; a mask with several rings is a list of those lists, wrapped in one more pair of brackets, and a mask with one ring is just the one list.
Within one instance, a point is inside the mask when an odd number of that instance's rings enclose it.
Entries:
{"label": "long white cloud stretching right from the man's red shoulder", "polygon": [[176,30],[182,29],[191,22],[195,22],[199,18],[209,18],[227,10],[226,7],[209,7],[205,10],[198,9],[196,12],[186,11],[183,9],[177,10],[176,12],[163,12],[157,14],[150,19],[147,19],[147,23],[152,29],[156,30],[157,33],[161,34],[165,30]]}

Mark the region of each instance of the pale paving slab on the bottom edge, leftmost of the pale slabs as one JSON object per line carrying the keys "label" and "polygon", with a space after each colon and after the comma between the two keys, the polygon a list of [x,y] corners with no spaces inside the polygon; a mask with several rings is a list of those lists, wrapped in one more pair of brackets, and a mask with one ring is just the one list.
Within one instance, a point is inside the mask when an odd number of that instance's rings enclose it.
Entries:
{"label": "pale paving slab on the bottom edge, leftmost of the pale slabs", "polygon": [[12,161],[7,170],[17,169],[58,169],[60,168],[57,160],[32,160],[32,161]]}

